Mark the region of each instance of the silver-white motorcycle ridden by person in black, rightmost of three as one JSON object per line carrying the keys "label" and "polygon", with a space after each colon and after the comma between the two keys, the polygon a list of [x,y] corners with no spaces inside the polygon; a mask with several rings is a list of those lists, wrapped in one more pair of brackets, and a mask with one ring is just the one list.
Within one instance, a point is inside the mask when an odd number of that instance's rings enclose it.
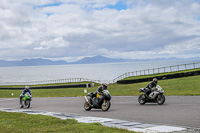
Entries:
{"label": "silver-white motorcycle ridden by person in black, rightmost of three", "polygon": [[164,96],[164,90],[157,85],[156,89],[153,90],[149,96],[146,94],[147,88],[140,88],[140,92],[144,92],[144,94],[141,94],[138,98],[138,102],[143,105],[147,102],[151,103],[157,103],[159,105],[162,105],[165,102],[165,96]]}

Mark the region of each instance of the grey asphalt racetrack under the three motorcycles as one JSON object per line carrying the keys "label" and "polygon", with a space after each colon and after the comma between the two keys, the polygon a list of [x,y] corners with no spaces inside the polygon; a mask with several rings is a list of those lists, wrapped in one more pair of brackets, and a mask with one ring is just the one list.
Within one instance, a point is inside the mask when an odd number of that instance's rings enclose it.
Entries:
{"label": "grey asphalt racetrack under the three motorcycles", "polygon": [[[200,128],[200,96],[166,96],[163,105],[157,105],[156,103],[140,105],[137,99],[138,96],[113,96],[110,110],[104,112],[100,109],[85,111],[83,97],[33,97],[29,110]],[[20,110],[19,99],[0,98],[0,108]]]}

